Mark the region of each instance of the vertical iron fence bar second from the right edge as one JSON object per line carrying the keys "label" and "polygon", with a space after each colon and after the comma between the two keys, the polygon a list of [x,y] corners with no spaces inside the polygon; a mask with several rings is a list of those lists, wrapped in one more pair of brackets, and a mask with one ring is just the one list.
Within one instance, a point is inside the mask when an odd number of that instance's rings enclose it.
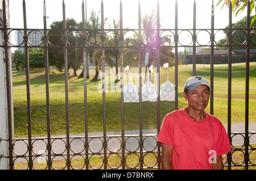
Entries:
{"label": "vertical iron fence bar second from the right edge", "polygon": [[[229,54],[228,54],[228,136],[229,141],[232,142],[231,138],[231,90],[232,90],[232,3],[229,4]],[[231,169],[231,153],[228,153],[228,169]]]}

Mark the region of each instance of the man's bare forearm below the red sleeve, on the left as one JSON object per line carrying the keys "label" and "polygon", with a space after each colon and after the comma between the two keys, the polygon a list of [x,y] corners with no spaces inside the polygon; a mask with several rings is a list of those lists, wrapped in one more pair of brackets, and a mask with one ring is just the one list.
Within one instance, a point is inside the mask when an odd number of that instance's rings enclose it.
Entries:
{"label": "man's bare forearm below the red sleeve, on the left", "polygon": [[168,146],[166,144],[161,143],[162,147],[162,169],[163,170],[171,170],[172,169],[172,151],[174,150],[174,146]]}

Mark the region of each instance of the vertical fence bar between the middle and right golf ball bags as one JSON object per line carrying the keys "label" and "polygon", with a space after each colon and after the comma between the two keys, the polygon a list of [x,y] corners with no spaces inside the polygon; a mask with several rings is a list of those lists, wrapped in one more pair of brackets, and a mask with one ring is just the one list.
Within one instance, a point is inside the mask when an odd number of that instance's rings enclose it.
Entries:
{"label": "vertical fence bar between the middle and right golf ball bags", "polygon": [[[156,28],[157,28],[157,33],[156,33],[156,42],[157,42],[157,54],[156,54],[156,60],[157,60],[157,74],[158,74],[158,103],[157,103],[157,107],[158,107],[158,115],[157,115],[157,129],[158,129],[158,134],[160,132],[160,7],[159,7],[159,1],[158,1],[158,5],[157,5],[157,24],[156,24]],[[161,161],[161,149],[160,149],[160,144],[159,142],[157,143],[158,146],[158,169],[160,169],[160,161]]]}

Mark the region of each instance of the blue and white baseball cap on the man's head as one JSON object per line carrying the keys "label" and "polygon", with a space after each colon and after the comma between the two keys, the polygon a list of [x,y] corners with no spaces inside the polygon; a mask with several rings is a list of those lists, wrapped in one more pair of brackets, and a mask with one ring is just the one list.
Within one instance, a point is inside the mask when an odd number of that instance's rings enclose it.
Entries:
{"label": "blue and white baseball cap on the man's head", "polygon": [[184,92],[185,92],[185,89],[194,90],[197,86],[200,86],[200,85],[208,86],[210,91],[210,85],[207,79],[203,77],[195,76],[187,79],[184,86]]}

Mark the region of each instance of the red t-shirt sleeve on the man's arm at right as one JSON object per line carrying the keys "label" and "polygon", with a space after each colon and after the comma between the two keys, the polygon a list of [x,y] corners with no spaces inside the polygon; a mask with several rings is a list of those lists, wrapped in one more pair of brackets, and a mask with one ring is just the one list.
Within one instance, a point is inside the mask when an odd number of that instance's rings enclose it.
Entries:
{"label": "red t-shirt sleeve on the man's arm at right", "polygon": [[231,151],[231,145],[224,126],[221,124],[216,145],[216,154],[223,155]]}

